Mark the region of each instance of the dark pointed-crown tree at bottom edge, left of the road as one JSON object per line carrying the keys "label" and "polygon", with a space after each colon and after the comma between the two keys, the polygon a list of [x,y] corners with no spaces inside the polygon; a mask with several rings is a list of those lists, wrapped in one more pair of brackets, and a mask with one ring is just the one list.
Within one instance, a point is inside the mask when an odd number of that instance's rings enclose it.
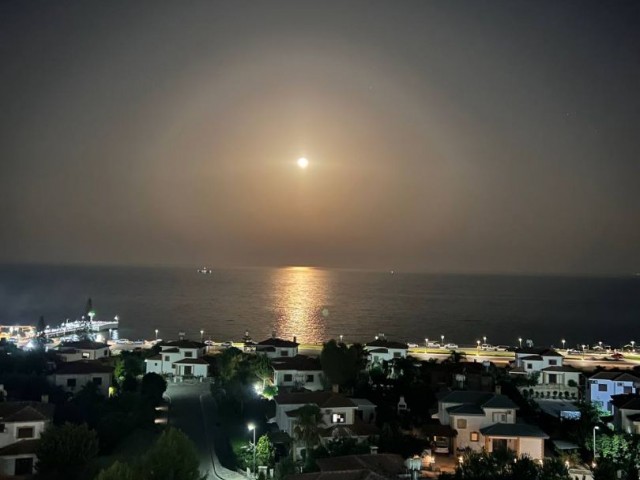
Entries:
{"label": "dark pointed-crown tree at bottom edge, left of the road", "polygon": [[145,480],[204,480],[199,465],[193,443],[180,430],[169,428],[144,457],[141,470]]}

